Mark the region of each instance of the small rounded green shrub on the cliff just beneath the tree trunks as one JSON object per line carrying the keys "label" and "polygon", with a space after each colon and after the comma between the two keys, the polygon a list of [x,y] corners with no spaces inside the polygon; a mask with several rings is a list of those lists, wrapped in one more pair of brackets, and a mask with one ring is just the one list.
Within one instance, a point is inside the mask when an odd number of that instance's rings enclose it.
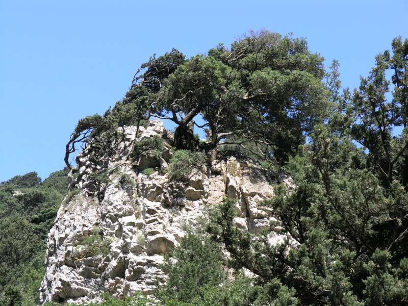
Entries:
{"label": "small rounded green shrub on the cliff just beneath the tree trunks", "polygon": [[204,152],[176,150],[170,161],[168,174],[172,180],[187,179],[192,171],[200,169],[206,164],[207,156]]}

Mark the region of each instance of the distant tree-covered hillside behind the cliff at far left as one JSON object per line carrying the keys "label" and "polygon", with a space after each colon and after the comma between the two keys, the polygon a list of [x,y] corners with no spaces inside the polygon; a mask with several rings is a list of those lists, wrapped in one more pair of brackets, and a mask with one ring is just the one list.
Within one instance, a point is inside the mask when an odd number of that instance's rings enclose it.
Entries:
{"label": "distant tree-covered hillside behind the cliff at far left", "polygon": [[44,277],[47,234],[67,190],[68,170],[36,172],[0,184],[0,305],[35,305]]}

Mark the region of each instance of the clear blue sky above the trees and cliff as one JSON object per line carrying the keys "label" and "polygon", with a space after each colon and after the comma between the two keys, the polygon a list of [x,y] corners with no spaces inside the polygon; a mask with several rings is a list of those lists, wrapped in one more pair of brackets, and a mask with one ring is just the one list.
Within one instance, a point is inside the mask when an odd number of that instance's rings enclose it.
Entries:
{"label": "clear blue sky above the trees and cliff", "polygon": [[408,1],[0,0],[0,182],[64,167],[80,118],[120,100],[172,47],[188,57],[262,28],[305,37],[357,87],[374,56],[408,37]]}

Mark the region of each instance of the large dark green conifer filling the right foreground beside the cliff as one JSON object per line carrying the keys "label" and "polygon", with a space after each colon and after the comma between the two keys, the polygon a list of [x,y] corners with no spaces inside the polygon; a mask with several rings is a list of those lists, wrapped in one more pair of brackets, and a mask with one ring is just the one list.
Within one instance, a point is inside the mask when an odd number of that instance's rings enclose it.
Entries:
{"label": "large dark green conifer filling the right foreground beside the cliff", "polygon": [[[233,200],[212,214],[209,233],[230,252],[230,267],[257,275],[258,301],[285,296],[286,303],[304,305],[408,303],[408,142],[405,131],[392,136],[405,119],[403,101],[386,100],[385,69],[393,57],[384,58],[386,53],[377,57],[360,91],[338,105],[328,124],[317,124],[310,143],[289,160],[285,168],[295,190],[278,186],[263,203],[290,238],[271,245],[263,234],[242,233],[234,224]],[[346,98],[347,91],[339,101]]]}

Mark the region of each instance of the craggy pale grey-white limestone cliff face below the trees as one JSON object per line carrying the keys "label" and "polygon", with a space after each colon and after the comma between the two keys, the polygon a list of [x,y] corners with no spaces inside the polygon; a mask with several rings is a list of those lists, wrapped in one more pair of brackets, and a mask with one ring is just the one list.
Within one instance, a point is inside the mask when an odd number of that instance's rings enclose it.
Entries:
{"label": "craggy pale grey-white limestone cliff face below the trees", "polygon": [[[162,172],[170,162],[172,142],[163,123],[151,120],[138,135],[133,126],[122,132],[112,151],[99,157],[104,166],[91,155],[81,160],[80,189],[63,201],[48,234],[42,302],[79,304],[99,301],[103,292],[119,298],[150,293],[156,279],[166,282],[160,269],[163,254],[184,236],[183,224],[194,222],[224,196],[237,199],[235,222],[242,231],[268,231],[276,243],[282,240],[278,220],[260,205],[273,196],[276,179],[271,172],[228,158],[217,161],[214,175],[202,169],[186,182],[171,181]],[[131,155],[135,141],[155,136],[169,144],[160,156]],[[155,171],[146,175],[146,168]],[[103,181],[96,171],[105,173]],[[289,177],[281,180],[292,186]]]}

